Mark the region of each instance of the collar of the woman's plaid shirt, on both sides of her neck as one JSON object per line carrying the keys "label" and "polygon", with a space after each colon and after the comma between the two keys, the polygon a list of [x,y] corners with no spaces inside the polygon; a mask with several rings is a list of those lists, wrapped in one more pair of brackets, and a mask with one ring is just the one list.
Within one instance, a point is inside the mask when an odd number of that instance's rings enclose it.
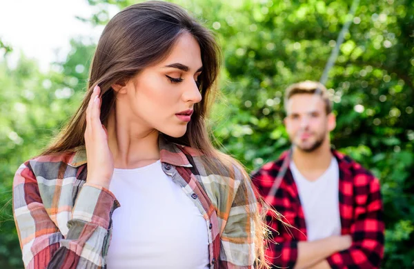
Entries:
{"label": "collar of the woman's plaid shirt, on both sides of her neck", "polygon": [[[170,141],[166,140],[162,134],[159,134],[158,146],[159,159],[161,163],[169,163],[173,166],[183,166],[188,168],[193,167],[182,150],[184,146],[171,143]],[[86,162],[87,159],[85,146],[79,146],[74,150],[74,153],[68,161],[68,165],[77,168]]]}

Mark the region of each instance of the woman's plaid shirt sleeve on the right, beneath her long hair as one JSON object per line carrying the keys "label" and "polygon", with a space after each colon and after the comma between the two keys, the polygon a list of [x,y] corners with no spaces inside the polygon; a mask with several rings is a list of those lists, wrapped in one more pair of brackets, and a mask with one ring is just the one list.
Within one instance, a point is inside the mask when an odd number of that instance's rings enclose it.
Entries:
{"label": "woman's plaid shirt sleeve on the right, beneath her long hair", "polygon": [[[220,237],[219,268],[250,269],[255,263],[255,221],[257,200],[250,179],[241,170],[235,171],[226,225]],[[226,201],[221,201],[226,203]]]}

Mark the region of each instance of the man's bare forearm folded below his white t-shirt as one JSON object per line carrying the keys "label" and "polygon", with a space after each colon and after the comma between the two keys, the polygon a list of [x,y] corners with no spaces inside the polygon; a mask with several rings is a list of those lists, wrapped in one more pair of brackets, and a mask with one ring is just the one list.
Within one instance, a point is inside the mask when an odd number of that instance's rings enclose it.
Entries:
{"label": "man's bare forearm folded below his white t-shirt", "polygon": [[333,255],[333,253],[346,249],[351,244],[346,237],[333,236],[315,241],[300,241],[297,243],[297,261],[295,269],[314,266]]}

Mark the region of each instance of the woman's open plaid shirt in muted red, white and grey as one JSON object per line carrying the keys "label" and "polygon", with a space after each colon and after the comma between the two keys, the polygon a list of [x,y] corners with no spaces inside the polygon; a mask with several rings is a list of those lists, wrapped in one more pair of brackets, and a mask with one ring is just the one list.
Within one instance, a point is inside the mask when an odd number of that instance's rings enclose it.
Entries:
{"label": "woman's open plaid shirt in muted red, white and grey", "polygon": [[[206,220],[210,268],[253,268],[257,201],[241,170],[218,164],[224,176],[214,175],[200,152],[161,135],[159,148],[164,172]],[[119,203],[109,190],[86,183],[86,174],[84,149],[37,157],[17,170],[14,219],[26,268],[106,268]]]}

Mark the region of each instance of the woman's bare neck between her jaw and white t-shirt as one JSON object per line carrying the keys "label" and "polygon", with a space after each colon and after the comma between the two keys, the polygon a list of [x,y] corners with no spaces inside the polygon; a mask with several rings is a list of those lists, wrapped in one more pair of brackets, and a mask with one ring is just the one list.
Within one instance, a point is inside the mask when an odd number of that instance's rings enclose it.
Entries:
{"label": "woman's bare neck between her jaw and white t-shirt", "polygon": [[128,114],[115,109],[107,121],[108,145],[115,168],[139,168],[159,159],[158,130],[131,121],[124,116]]}

